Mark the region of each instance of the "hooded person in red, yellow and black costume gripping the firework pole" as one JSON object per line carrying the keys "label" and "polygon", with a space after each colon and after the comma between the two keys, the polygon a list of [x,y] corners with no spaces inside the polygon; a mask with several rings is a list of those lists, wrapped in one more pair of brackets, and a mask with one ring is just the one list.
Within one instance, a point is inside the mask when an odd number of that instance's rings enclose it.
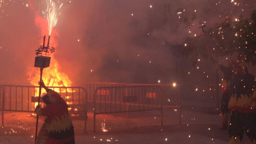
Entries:
{"label": "hooded person in red, yellow and black costume gripping the firework pole", "polygon": [[42,97],[46,104],[44,108],[37,106],[35,112],[39,116],[47,116],[42,125],[35,144],[75,144],[74,126],[68,115],[68,105],[58,92],[47,88],[43,82],[38,82],[46,90]]}

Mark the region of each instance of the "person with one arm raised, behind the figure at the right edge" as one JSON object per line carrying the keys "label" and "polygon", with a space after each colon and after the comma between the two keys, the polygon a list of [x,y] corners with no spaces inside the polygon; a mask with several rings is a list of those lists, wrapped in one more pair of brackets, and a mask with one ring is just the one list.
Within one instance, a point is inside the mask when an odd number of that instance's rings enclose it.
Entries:
{"label": "person with one arm raised, behind the figure at the right edge", "polygon": [[223,74],[223,80],[221,84],[221,91],[223,92],[222,94],[222,99],[221,99],[221,105],[220,105],[220,110],[221,110],[221,127],[219,130],[227,130],[228,129],[228,119],[230,116],[230,110],[228,109],[228,102],[230,100],[230,80],[232,79],[232,65],[229,64],[229,67],[226,67],[224,65],[221,65],[218,63],[217,60],[215,60],[211,56],[212,63],[219,68]]}

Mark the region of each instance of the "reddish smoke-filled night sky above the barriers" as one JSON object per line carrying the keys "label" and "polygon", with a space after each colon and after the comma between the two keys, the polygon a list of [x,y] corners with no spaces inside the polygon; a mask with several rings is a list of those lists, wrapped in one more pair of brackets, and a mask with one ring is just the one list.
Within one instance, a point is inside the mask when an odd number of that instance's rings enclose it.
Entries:
{"label": "reddish smoke-filled night sky above the barriers", "polygon": [[[47,7],[45,1],[1,2],[0,81],[27,81],[35,50],[42,44],[43,35],[48,35],[47,30],[38,27],[43,25],[47,29],[42,12]],[[63,3],[58,11],[61,14],[53,28],[57,35],[52,36],[58,44],[54,57],[73,85],[157,84],[158,80],[161,84],[179,84],[181,58],[175,57],[166,43],[185,44],[186,36],[202,36],[199,22],[209,28],[227,16],[232,20],[240,14],[249,17],[256,8],[254,0],[60,0],[60,3]],[[192,23],[189,28],[181,24],[177,14],[180,10],[185,10],[182,17]],[[36,21],[37,14],[45,21]],[[227,65],[225,60],[226,57],[219,61]],[[249,71],[254,74],[254,67],[249,66]],[[184,93],[196,92],[198,88],[196,95],[207,94],[211,98],[215,94],[212,91],[217,84],[216,68],[209,59],[200,58],[193,67],[189,57],[183,58],[182,73]],[[190,93],[188,97],[193,95]]]}

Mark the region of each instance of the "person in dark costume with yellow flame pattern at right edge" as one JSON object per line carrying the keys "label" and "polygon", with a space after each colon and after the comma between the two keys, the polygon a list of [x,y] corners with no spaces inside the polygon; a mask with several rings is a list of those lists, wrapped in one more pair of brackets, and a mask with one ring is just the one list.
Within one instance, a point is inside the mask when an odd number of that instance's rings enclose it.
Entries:
{"label": "person in dark costume with yellow flame pattern at right edge", "polygon": [[256,144],[256,79],[248,74],[247,68],[240,62],[233,63],[233,73],[228,104],[231,110],[229,144],[240,144],[244,132],[249,138],[249,144]]}

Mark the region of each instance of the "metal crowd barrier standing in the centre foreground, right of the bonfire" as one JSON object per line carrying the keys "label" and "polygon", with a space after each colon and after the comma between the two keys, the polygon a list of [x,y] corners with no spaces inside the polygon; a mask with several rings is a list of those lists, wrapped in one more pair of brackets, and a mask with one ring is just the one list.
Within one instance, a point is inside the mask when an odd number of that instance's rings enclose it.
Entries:
{"label": "metal crowd barrier standing in the centre foreground, right of the bonfire", "polygon": [[96,115],[149,110],[161,111],[163,126],[162,93],[157,85],[98,87],[93,94],[93,131]]}

